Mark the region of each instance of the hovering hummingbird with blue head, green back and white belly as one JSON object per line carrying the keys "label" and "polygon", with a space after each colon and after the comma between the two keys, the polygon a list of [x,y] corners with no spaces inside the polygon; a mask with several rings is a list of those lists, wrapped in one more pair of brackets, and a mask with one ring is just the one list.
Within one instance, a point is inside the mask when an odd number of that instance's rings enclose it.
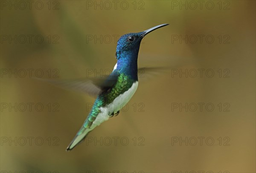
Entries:
{"label": "hovering hummingbird with blue head, green back and white belly", "polygon": [[[167,26],[162,24],[138,33],[129,33],[121,36],[116,46],[116,65],[112,73],[103,82],[96,85],[95,93],[98,96],[93,107],[84,121],[80,130],[67,147],[67,151],[72,150],[81,143],[87,134],[102,122],[107,121],[112,116],[117,116],[120,109],[131,99],[138,87],[138,53],[141,40],[158,28]],[[80,86],[77,88],[90,88]],[[84,84],[81,84],[84,85]]]}

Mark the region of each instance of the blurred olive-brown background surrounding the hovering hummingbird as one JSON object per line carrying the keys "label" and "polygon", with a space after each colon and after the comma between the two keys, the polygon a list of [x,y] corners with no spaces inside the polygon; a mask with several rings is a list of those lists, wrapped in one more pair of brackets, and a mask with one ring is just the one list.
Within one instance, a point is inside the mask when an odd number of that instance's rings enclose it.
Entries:
{"label": "blurred olive-brown background surrounding the hovering hummingbird", "polygon": [[[2,172],[256,172],[255,1],[0,3]],[[33,78],[108,75],[120,36],[163,23],[138,65],[171,70],[66,152],[95,98]]]}

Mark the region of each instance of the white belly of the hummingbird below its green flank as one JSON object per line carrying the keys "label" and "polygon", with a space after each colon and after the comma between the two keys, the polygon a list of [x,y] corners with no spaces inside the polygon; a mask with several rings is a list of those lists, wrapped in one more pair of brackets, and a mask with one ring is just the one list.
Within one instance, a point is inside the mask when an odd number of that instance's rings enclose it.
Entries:
{"label": "white belly of the hummingbird below its green flank", "polygon": [[109,119],[110,113],[117,112],[122,109],[122,107],[124,107],[134,95],[138,88],[138,84],[138,81],[134,82],[128,91],[125,91],[123,94],[117,96],[111,104],[105,107],[101,107],[101,113],[98,114],[92,126],[100,125],[102,122],[105,122]]}

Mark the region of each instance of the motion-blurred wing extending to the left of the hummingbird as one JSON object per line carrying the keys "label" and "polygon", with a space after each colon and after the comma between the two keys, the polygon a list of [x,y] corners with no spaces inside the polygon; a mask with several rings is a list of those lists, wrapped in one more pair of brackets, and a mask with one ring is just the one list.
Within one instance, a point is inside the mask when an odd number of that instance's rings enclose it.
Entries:
{"label": "motion-blurred wing extending to the left of the hummingbird", "polygon": [[114,70],[109,77],[106,78],[82,78],[82,79],[41,79],[35,78],[44,82],[49,82],[52,85],[80,91],[90,96],[97,96],[104,91],[108,91],[113,85],[116,84],[119,73]]}

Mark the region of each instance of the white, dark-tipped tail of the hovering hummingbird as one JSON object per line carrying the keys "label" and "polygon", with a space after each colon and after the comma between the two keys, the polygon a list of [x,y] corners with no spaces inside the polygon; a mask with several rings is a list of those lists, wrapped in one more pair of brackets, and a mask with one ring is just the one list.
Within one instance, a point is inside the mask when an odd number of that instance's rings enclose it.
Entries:
{"label": "white, dark-tipped tail of the hovering hummingbird", "polygon": [[70,142],[70,145],[68,145],[66,151],[72,150],[76,145],[80,144],[84,141],[86,135],[93,130],[96,126],[92,125],[90,128],[84,128],[84,126],[81,127],[81,129],[78,131],[74,139]]}

